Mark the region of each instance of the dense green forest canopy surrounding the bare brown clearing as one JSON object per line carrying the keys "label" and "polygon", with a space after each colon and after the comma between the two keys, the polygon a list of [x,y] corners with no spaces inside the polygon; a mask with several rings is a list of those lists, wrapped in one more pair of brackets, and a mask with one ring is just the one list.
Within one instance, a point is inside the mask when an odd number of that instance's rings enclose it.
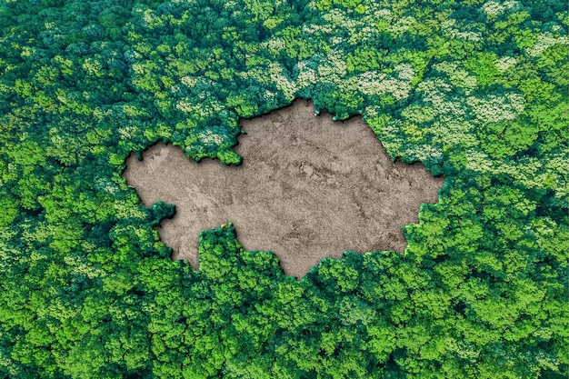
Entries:
{"label": "dense green forest canopy surrounding the bare brown clearing", "polygon": [[[568,29],[563,0],[1,1],[0,377],[567,377]],[[126,156],[239,164],[238,120],[295,98],[444,175],[405,253],[297,281],[226,224],[173,262]]]}

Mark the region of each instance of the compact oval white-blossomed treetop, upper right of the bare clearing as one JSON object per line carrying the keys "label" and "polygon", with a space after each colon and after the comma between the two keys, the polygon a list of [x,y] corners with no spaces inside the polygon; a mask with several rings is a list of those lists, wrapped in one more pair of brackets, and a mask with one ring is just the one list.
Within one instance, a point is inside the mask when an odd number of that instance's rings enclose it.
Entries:
{"label": "compact oval white-blossomed treetop, upper right of the bare clearing", "polygon": [[508,93],[505,95],[488,95],[484,98],[469,96],[466,103],[471,106],[476,117],[484,123],[500,123],[514,120],[524,112],[524,96]]}

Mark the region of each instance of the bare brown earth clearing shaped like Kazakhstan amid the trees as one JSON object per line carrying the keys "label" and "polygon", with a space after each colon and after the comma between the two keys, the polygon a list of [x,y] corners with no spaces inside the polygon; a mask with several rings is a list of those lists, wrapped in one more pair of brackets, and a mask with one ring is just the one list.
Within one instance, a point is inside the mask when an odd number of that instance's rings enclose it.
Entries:
{"label": "bare brown earth clearing shaped like Kazakhstan amid the trees", "polygon": [[246,250],[272,251],[284,273],[302,277],[324,257],[345,250],[403,252],[401,226],[418,221],[421,203],[436,203],[444,178],[423,165],[392,163],[361,117],[333,122],[311,103],[293,105],[241,127],[240,166],[196,163],[159,143],[124,176],[145,205],[175,204],[158,229],[173,259],[198,266],[198,237],[227,221]]}

